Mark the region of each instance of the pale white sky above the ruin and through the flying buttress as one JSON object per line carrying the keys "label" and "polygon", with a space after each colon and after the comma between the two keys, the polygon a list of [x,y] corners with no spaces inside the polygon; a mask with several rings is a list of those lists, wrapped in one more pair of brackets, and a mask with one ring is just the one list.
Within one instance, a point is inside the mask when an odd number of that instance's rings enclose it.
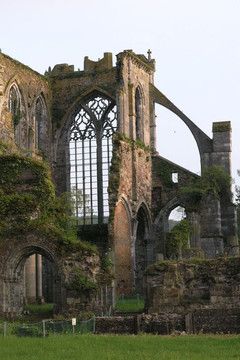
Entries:
{"label": "pale white sky above the ruin and through the flying buttress", "polygon": [[[152,51],[155,86],[212,137],[212,122],[231,121],[232,176],[240,168],[239,0],[11,0],[1,2],[0,48],[44,73],[66,62],[83,69],[104,52]],[[157,149],[200,170],[183,122],[156,106]],[[236,178],[240,182],[240,178]]]}

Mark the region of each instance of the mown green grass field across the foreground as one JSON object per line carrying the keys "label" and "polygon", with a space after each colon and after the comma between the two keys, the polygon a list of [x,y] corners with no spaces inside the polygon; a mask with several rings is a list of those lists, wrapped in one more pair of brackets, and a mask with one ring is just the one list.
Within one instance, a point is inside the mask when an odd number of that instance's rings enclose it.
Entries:
{"label": "mown green grass field across the foreground", "polygon": [[3,360],[240,359],[239,335],[64,335],[0,338]]}

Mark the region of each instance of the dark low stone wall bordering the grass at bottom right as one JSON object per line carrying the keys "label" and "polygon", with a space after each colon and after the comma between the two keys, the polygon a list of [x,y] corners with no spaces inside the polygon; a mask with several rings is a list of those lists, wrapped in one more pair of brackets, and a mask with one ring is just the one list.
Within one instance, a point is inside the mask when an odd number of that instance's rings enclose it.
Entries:
{"label": "dark low stone wall bordering the grass at bottom right", "polygon": [[186,316],[189,333],[240,333],[240,308],[202,309]]}

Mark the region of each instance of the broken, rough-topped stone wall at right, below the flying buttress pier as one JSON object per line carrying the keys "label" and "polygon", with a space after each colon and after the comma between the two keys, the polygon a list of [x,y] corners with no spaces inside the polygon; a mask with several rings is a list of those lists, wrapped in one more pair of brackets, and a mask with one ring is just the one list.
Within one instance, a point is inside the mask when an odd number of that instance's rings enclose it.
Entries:
{"label": "broken, rough-topped stone wall at right, below the flying buttress pier", "polygon": [[240,258],[159,262],[145,286],[148,313],[240,308]]}

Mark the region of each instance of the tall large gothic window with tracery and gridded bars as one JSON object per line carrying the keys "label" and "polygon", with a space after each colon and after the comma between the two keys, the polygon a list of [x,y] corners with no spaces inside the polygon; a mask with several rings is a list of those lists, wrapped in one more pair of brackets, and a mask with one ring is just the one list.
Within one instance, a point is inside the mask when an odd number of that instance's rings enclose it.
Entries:
{"label": "tall large gothic window with tracery and gridded bars", "polygon": [[69,134],[70,186],[77,225],[107,223],[114,101],[98,94],[81,103]]}

